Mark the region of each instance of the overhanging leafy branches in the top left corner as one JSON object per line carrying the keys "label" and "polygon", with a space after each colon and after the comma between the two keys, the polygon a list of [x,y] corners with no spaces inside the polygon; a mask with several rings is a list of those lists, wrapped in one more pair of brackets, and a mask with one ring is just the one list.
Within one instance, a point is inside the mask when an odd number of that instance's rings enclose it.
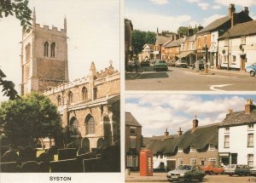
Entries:
{"label": "overhanging leafy branches in the top left corner", "polygon": [[0,0],[0,18],[15,15],[20,20],[23,31],[29,31],[32,26],[32,10],[27,4],[28,0]]}

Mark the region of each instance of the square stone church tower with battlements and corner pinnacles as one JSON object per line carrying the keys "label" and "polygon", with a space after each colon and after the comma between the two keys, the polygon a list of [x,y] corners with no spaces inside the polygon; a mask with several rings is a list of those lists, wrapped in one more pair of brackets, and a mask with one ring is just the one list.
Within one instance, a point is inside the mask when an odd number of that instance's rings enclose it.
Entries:
{"label": "square stone church tower with battlements and corner pinnacles", "polygon": [[21,95],[42,92],[68,82],[67,20],[64,29],[41,27],[32,14],[32,30],[22,32]]}

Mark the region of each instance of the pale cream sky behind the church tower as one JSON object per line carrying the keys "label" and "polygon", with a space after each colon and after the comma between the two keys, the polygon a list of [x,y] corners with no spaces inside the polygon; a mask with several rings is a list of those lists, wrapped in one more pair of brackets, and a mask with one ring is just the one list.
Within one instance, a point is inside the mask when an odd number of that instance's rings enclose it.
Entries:
{"label": "pale cream sky behind the church tower", "polygon": [[[110,60],[120,71],[119,0],[29,0],[29,7],[35,7],[38,24],[58,30],[64,28],[66,15],[70,81],[87,76],[92,61],[97,71],[108,67]],[[19,91],[21,30],[15,17],[0,19],[0,68]],[[0,101],[5,100],[2,95]]]}

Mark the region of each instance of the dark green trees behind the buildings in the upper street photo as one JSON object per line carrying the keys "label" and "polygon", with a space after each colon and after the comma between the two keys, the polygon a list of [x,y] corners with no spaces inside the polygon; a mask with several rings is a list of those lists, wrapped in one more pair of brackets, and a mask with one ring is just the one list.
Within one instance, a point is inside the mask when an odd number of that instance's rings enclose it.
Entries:
{"label": "dark green trees behind the buildings in the upper street photo", "polygon": [[145,43],[154,43],[155,33],[152,31],[132,31],[132,47],[134,54],[139,54],[143,50]]}

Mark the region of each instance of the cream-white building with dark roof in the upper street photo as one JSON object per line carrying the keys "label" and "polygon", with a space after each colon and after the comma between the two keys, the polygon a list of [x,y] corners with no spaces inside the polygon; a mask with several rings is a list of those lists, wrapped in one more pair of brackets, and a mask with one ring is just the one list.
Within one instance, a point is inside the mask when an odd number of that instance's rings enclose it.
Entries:
{"label": "cream-white building with dark roof in the upper street photo", "polygon": [[256,20],[237,24],[218,39],[218,65],[244,71],[256,60]]}

